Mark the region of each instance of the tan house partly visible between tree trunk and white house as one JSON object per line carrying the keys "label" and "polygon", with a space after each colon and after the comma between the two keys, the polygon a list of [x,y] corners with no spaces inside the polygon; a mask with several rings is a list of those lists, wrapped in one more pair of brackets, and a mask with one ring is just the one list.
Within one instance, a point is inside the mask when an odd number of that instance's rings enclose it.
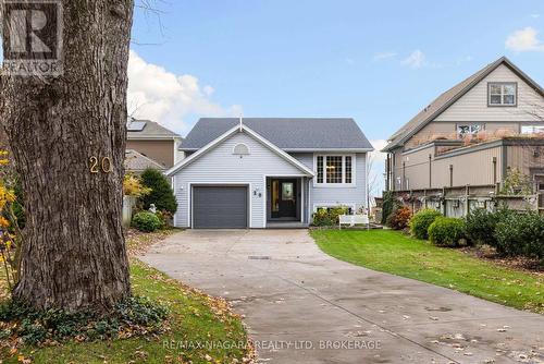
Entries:
{"label": "tan house partly visible between tree trunk and white house", "polygon": [[180,150],[183,138],[150,120],[131,118],[127,126],[126,149],[136,150],[162,166],[171,168],[184,158]]}

